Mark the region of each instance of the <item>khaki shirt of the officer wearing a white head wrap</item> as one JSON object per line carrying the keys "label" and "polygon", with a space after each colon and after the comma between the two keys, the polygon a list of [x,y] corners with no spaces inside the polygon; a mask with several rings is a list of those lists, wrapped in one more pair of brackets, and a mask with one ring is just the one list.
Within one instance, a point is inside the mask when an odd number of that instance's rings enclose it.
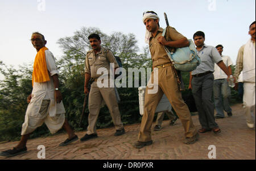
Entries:
{"label": "khaki shirt of the officer wearing a white head wrap", "polygon": [[[158,33],[156,34],[155,37],[153,37],[152,34],[150,36],[149,47],[154,67],[157,65],[162,65],[171,62],[166,53],[166,50],[164,49],[164,46],[158,42],[158,37],[162,36],[162,33],[163,28],[159,28]],[[166,37],[167,41],[175,41],[182,39],[184,36],[177,32],[175,28],[169,26],[167,27],[166,35],[164,37]],[[171,52],[175,51],[175,48],[168,49]]]}

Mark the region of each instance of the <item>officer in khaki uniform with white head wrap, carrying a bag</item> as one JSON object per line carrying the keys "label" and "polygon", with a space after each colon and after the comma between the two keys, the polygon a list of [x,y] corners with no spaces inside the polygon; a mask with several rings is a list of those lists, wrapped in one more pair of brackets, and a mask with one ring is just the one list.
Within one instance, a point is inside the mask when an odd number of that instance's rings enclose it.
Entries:
{"label": "officer in khaki uniform with white head wrap, carrying a bag", "polygon": [[[151,90],[151,83],[146,87],[141,131],[139,132],[138,141],[134,144],[134,147],[142,148],[145,145],[152,144],[151,126],[156,106],[163,94],[166,94],[166,97],[183,124],[185,131],[184,143],[193,144],[199,139],[199,134],[192,122],[188,106],[184,103],[181,97],[181,91],[177,85],[174,69],[164,50],[164,45],[171,48],[180,48],[188,46],[189,41],[172,27],[168,27],[166,32],[167,37],[170,40],[166,40],[162,37],[163,28],[159,27],[159,17],[154,11],[147,11],[144,13],[143,23],[146,25],[147,29],[145,40],[149,43],[153,66],[154,68],[158,68],[158,91],[154,94],[149,93],[148,90]],[[152,80],[155,80],[154,72],[155,71],[151,73],[151,82]]]}

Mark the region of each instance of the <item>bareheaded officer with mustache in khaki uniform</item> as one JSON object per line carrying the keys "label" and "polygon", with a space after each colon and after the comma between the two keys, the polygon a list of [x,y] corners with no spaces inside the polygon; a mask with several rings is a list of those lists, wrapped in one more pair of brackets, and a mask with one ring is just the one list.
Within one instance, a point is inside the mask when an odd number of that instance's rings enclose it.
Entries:
{"label": "bareheaded officer with mustache in khaki uniform", "polygon": [[[90,78],[94,81],[90,86],[89,93],[89,116],[88,116],[88,128],[84,137],[81,141],[86,141],[97,137],[96,134],[96,121],[98,114],[100,112],[102,102],[105,102],[108,106],[109,112],[112,116],[115,129],[117,130],[114,136],[119,136],[125,134],[125,129],[123,128],[123,123],[121,122],[121,115],[118,109],[117,98],[115,95],[114,87],[109,85],[110,83],[110,64],[114,64],[114,68],[118,68],[117,61],[109,49],[101,47],[101,39],[97,34],[91,34],[88,37],[92,50],[87,52],[85,59],[85,86],[84,93],[88,94],[89,90],[87,88]],[[98,70],[101,69],[108,70],[108,74],[97,74]],[[105,75],[105,76],[104,76]],[[103,87],[98,87],[97,81],[99,77],[105,77],[108,80],[108,85]],[[109,79],[110,78],[110,79]]]}

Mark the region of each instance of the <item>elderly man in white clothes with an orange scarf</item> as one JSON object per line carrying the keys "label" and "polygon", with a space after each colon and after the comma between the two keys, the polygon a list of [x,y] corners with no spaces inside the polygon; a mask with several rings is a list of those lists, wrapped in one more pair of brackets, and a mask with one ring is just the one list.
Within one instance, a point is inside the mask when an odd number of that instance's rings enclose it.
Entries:
{"label": "elderly man in white clothes with an orange scarf", "polygon": [[[34,61],[32,73],[32,93],[28,96],[28,107],[25,121],[22,125],[21,139],[13,149],[3,151],[0,156],[16,156],[27,152],[26,143],[28,137],[37,128],[46,123],[51,134],[55,134],[61,128],[68,133],[68,139],[60,146],[68,145],[78,140],[77,135],[65,119],[65,109],[62,95],[59,90],[59,72],[55,65],[52,53],[45,47],[47,41],[39,32],[31,36],[31,43],[38,52]],[[42,144],[43,145],[43,144]]]}

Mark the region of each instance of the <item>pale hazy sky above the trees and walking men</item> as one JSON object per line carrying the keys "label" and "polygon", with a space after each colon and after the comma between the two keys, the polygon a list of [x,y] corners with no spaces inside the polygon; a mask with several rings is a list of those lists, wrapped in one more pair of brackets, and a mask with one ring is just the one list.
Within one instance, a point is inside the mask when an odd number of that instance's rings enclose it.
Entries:
{"label": "pale hazy sky above the trees and walking men", "polygon": [[36,50],[30,39],[35,31],[46,37],[46,46],[58,59],[63,51],[57,40],[73,36],[81,27],[97,27],[105,34],[132,33],[142,49],[147,45],[142,14],[148,10],[158,13],[163,28],[166,12],[170,26],[188,39],[203,31],[205,44],[222,44],[222,55],[230,56],[234,64],[255,21],[255,0],[0,0],[0,60],[14,68],[32,65]]}

